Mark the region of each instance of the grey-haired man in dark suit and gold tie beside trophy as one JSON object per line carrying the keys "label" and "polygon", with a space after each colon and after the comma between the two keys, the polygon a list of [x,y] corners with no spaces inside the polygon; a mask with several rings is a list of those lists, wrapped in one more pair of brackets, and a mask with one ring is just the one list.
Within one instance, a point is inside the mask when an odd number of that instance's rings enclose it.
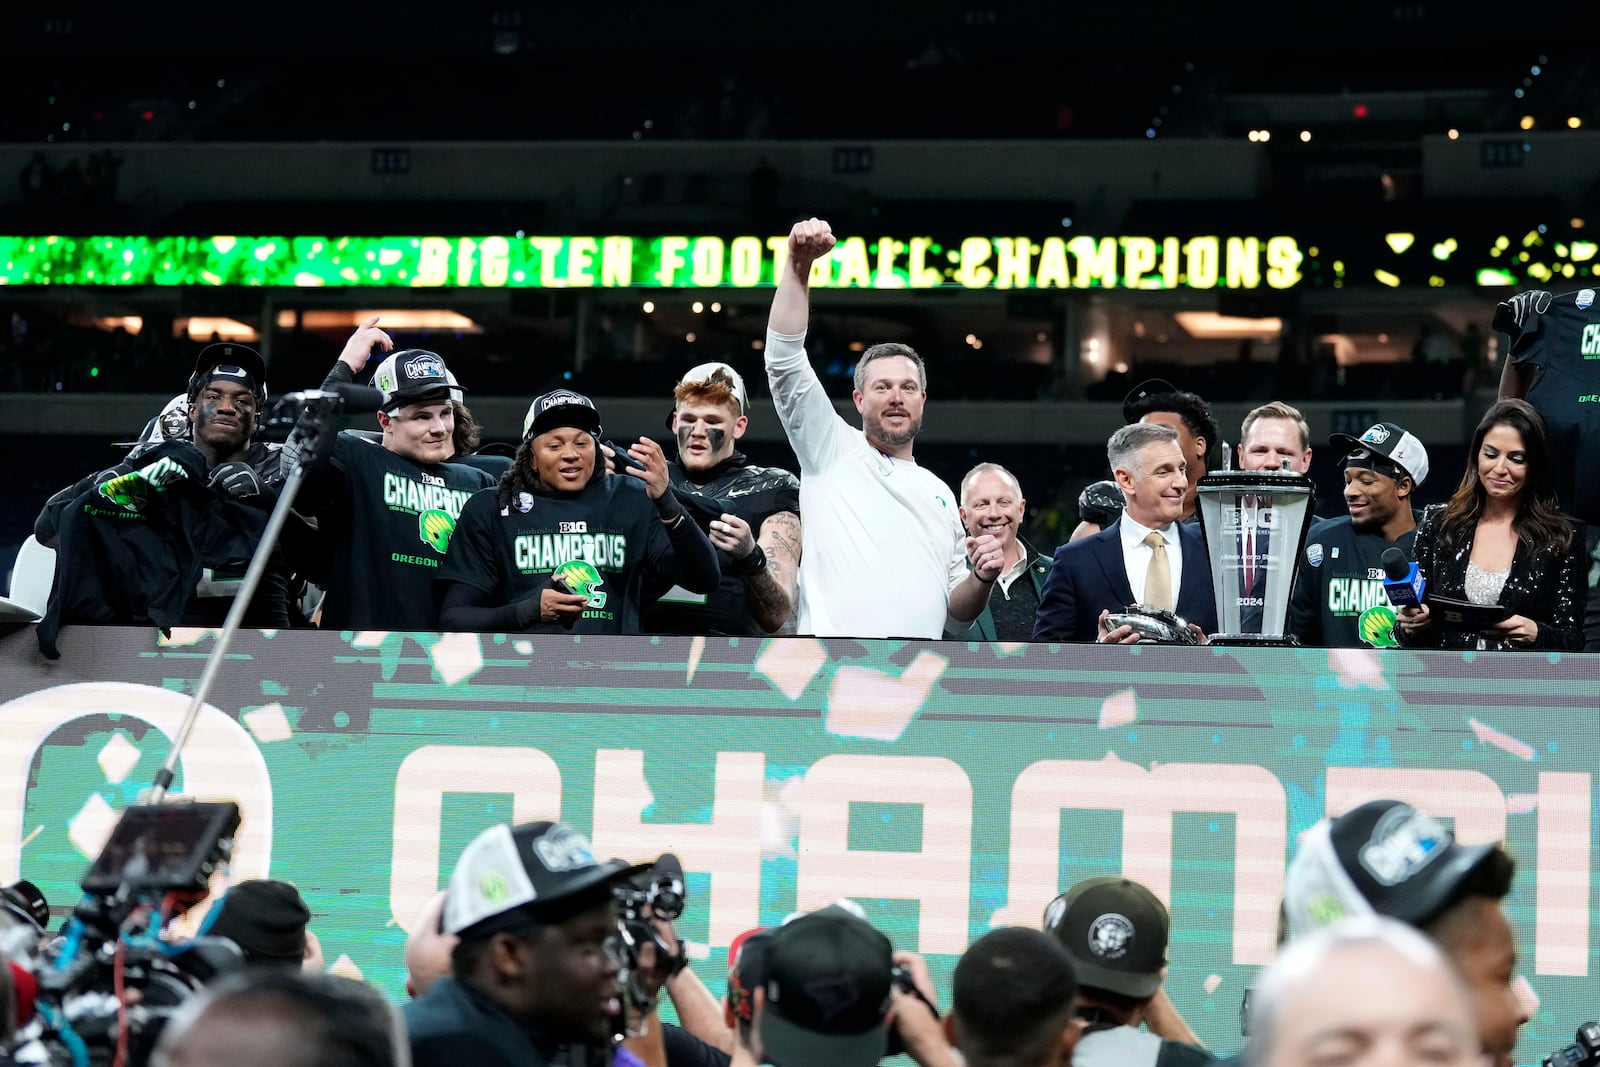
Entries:
{"label": "grey-haired man in dark suit and gold tie beside trophy", "polygon": [[1205,633],[1216,629],[1211,566],[1200,533],[1178,520],[1189,488],[1178,432],[1134,422],[1106,443],[1128,506],[1093,537],[1056,549],[1034,619],[1035,641],[1133,643],[1106,614],[1133,603],[1176,611]]}

